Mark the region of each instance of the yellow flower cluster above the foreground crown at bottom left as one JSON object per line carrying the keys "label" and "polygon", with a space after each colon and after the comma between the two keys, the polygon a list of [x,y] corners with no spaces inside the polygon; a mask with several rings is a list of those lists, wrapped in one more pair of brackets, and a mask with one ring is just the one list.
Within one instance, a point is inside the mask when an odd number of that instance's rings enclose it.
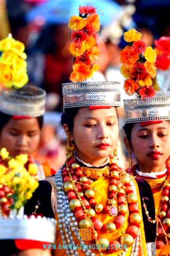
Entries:
{"label": "yellow flower cluster above the foreground crown at bottom left", "polygon": [[30,162],[25,154],[11,158],[5,148],[0,150],[2,212],[9,212],[9,208],[19,209],[32,197],[38,187],[37,168],[37,165]]}

